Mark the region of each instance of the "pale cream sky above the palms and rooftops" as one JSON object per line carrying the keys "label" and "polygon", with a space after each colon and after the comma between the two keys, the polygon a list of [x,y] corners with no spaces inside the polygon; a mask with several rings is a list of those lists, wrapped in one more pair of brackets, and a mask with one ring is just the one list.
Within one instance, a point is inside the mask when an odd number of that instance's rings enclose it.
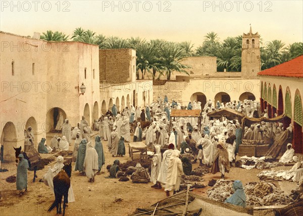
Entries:
{"label": "pale cream sky above the palms and rooftops", "polygon": [[303,1],[2,1],[0,30],[33,32],[77,27],[105,36],[203,43],[214,31],[221,41],[259,32],[263,42],[303,41]]}

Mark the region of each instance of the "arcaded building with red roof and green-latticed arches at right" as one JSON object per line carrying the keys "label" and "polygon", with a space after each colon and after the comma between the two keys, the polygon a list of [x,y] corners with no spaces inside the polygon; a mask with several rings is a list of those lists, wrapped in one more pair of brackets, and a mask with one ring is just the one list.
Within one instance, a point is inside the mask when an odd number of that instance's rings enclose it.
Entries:
{"label": "arcaded building with red roof and green-latticed arches at right", "polygon": [[261,110],[285,114],[284,129],[293,125],[295,153],[303,154],[303,55],[258,73],[260,76]]}

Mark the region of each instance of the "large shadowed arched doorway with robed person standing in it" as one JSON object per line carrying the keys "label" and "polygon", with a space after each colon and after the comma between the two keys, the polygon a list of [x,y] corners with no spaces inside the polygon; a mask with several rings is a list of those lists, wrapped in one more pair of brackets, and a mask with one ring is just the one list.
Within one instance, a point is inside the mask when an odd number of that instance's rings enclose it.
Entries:
{"label": "large shadowed arched doorway with robed person standing in it", "polygon": [[[63,121],[67,118],[65,111],[59,107],[53,107],[49,109],[46,113],[45,125],[41,125],[42,130],[48,132],[53,132],[55,130],[57,123],[60,119],[60,114],[62,114]],[[63,123],[63,122],[61,122]],[[54,131],[55,132],[55,131]]]}

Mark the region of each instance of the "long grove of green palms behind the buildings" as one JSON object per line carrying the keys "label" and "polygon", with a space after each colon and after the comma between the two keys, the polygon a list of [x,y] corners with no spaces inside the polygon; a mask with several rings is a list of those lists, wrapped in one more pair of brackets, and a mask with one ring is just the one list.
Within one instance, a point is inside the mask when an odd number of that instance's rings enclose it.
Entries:
{"label": "long grove of green palms behind the buildings", "polygon": [[[217,71],[241,71],[242,36],[227,37],[221,42],[218,34],[210,32],[204,36],[202,45],[194,49],[194,44],[184,41],[169,42],[162,39],[147,41],[139,37],[123,39],[120,37],[106,37],[91,30],[76,28],[72,36],[63,32],[51,30],[42,33],[40,39],[46,41],[81,41],[96,44],[100,49],[132,48],[137,55],[137,79],[152,77],[153,80],[165,77],[170,80],[175,71],[188,74],[186,68],[190,65],[182,64],[186,56],[216,56]],[[280,40],[264,42],[260,37],[261,69],[273,67],[303,54],[303,43],[295,42],[285,46]]]}

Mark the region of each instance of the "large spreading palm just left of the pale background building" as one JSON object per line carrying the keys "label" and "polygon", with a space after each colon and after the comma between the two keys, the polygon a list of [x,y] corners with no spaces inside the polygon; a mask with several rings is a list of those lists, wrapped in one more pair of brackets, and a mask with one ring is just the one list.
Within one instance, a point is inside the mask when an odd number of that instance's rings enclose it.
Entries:
{"label": "large spreading palm just left of the pale background building", "polygon": [[190,68],[190,66],[181,63],[186,54],[183,49],[180,49],[180,46],[174,42],[167,42],[161,46],[160,50],[160,62],[163,67],[163,71],[160,71],[161,75],[165,73],[167,80],[170,80],[174,71],[189,75],[185,69]]}

